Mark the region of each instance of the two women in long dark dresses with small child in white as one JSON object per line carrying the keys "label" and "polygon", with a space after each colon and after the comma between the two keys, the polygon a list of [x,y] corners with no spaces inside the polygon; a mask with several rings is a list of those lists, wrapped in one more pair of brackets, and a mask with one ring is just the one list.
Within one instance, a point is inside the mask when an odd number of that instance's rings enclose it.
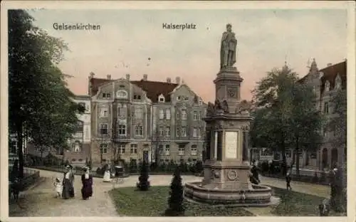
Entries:
{"label": "two women in long dark dresses with small child in white", "polygon": [[[73,167],[66,166],[66,171],[63,174],[63,181],[61,182],[59,178],[56,178],[54,186],[56,187],[57,197],[63,199],[74,198],[74,174],[72,171]],[[85,166],[84,173],[81,176],[82,181],[82,198],[83,200],[88,200],[90,196],[93,196],[93,176],[90,174],[90,169]]]}

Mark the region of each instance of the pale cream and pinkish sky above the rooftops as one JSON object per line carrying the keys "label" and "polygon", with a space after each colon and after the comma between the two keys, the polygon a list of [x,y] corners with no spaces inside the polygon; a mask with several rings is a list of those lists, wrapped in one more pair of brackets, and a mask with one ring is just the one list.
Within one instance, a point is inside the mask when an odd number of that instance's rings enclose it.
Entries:
{"label": "pale cream and pinkish sky above the rooftops", "polygon": [[[163,81],[179,76],[205,102],[214,101],[221,35],[231,23],[238,41],[236,68],[244,78],[241,99],[250,100],[256,82],[285,60],[300,77],[308,60],[318,68],[347,58],[347,11],[343,9],[41,9],[29,11],[35,24],[63,38],[70,51],[59,68],[73,78],[68,87],[88,93],[88,75]],[[100,25],[100,30],[64,31],[53,23]],[[163,23],[193,23],[172,30]],[[150,58],[150,60],[149,60]]]}

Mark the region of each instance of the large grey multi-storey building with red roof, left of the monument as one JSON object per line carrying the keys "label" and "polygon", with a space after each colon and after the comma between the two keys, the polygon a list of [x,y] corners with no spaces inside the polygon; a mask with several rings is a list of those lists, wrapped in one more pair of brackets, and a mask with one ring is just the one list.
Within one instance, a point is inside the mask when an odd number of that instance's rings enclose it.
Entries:
{"label": "large grey multi-storey building with red roof, left of the monument", "polygon": [[90,73],[91,159],[194,162],[202,159],[206,105],[176,78],[172,83],[94,78]]}

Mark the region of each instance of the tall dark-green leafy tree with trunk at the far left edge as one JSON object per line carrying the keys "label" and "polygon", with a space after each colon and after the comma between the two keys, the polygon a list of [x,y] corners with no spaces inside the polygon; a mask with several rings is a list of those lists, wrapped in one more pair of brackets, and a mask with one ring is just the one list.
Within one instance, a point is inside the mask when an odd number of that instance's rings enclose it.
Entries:
{"label": "tall dark-green leafy tree with trunk at the far left edge", "polygon": [[68,46],[33,26],[23,10],[9,10],[9,132],[16,133],[19,176],[23,177],[23,137],[39,147],[68,147],[76,113],[66,76],[56,67]]}

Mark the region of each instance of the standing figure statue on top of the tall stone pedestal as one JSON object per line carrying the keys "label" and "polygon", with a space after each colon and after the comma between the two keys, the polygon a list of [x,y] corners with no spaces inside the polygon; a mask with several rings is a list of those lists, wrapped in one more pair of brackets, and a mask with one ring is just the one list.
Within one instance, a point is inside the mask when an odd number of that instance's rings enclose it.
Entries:
{"label": "standing figure statue on top of the tall stone pedestal", "polygon": [[231,24],[227,24],[221,38],[220,68],[232,67],[236,63],[237,40],[231,28]]}

